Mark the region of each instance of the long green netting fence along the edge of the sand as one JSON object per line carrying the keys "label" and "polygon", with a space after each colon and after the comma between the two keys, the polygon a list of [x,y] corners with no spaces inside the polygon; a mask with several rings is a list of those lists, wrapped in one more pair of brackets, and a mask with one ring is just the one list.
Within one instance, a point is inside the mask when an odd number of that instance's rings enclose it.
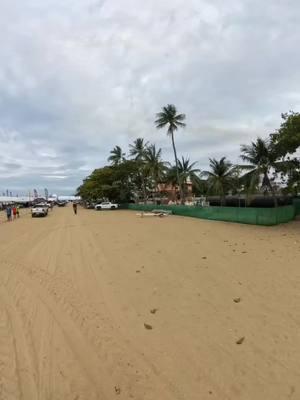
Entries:
{"label": "long green netting fence along the edge of the sand", "polygon": [[[239,222],[252,225],[278,225],[289,222],[295,217],[295,205],[277,208],[242,208],[242,207],[190,207],[190,206],[156,206],[129,204],[130,210],[152,211],[153,209],[171,210],[174,215],[194,217],[217,221]],[[299,201],[300,213],[300,201]]]}

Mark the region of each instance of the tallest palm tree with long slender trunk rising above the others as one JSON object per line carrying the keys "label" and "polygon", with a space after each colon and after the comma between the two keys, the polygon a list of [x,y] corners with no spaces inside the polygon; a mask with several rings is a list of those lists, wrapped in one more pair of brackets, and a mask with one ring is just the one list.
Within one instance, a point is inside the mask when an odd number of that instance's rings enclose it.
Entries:
{"label": "tallest palm tree with long slender trunk rising above the others", "polygon": [[183,201],[183,192],[179,179],[178,171],[178,158],[175,146],[174,133],[178,128],[184,128],[186,124],[183,122],[185,120],[185,114],[177,114],[176,107],[173,104],[168,104],[166,107],[162,108],[162,111],[156,114],[155,125],[157,129],[162,129],[168,127],[167,134],[171,136],[173,152],[175,157],[176,175],[177,183],[179,185],[181,201]]}

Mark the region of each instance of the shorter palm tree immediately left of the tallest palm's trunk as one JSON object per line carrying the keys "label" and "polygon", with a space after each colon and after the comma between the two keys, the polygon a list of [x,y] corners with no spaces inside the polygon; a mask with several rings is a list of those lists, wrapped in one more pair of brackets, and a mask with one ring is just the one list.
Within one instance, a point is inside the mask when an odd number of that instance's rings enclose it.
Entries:
{"label": "shorter palm tree immediately left of the tallest palm's trunk", "polygon": [[149,145],[145,150],[145,169],[153,181],[154,190],[158,190],[158,184],[163,180],[166,172],[166,163],[161,159],[161,149],[156,149],[155,144]]}

